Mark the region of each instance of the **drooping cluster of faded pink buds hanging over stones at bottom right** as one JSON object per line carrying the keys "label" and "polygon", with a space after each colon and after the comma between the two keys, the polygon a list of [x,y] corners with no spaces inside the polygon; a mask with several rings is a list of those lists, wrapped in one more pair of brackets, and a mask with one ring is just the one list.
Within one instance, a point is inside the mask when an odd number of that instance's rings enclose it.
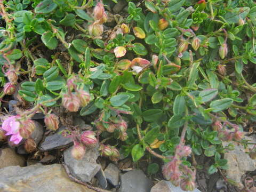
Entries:
{"label": "drooping cluster of faded pink buds hanging over stones at bottom right", "polygon": [[191,154],[191,148],[179,144],[175,149],[175,155],[170,157],[171,161],[163,166],[163,174],[167,180],[170,180],[174,186],[181,187],[182,190],[194,190],[195,171],[182,164],[182,158]]}

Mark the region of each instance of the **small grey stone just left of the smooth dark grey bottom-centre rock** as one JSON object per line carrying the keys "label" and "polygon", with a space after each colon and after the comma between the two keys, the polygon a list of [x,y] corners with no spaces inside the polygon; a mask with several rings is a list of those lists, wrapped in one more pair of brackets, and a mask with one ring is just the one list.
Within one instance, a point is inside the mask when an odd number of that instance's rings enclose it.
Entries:
{"label": "small grey stone just left of the smooth dark grey bottom-centre rock", "polygon": [[111,185],[118,187],[119,173],[120,173],[120,170],[118,169],[118,167],[113,163],[109,163],[109,165],[106,167],[104,172],[105,172],[107,181],[111,183]]}

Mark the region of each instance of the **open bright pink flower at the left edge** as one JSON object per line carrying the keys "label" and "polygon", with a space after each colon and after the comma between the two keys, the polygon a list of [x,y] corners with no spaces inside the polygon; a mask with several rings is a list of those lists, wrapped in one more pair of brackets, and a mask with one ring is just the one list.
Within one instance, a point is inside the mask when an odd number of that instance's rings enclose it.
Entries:
{"label": "open bright pink flower at the left edge", "polygon": [[4,120],[2,129],[6,131],[5,135],[12,135],[10,141],[17,145],[22,137],[19,133],[20,123],[17,121],[18,116],[10,116]]}

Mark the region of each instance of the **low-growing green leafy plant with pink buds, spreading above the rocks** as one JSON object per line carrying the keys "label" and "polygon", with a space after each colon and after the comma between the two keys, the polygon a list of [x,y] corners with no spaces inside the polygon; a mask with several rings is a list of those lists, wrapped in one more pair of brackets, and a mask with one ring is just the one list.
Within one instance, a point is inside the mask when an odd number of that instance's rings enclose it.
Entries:
{"label": "low-growing green leafy plant with pink buds, spreading above the rocks", "polygon": [[[102,156],[161,158],[164,177],[193,190],[191,159],[212,157],[209,174],[227,169],[222,157],[234,145],[222,141],[243,143],[243,130],[255,122],[256,4],[129,1],[106,28],[113,2],[0,1],[0,97],[16,95],[23,106],[3,118],[0,139],[12,135],[17,145],[29,138],[38,111],[57,130],[51,109],[63,106],[94,119]],[[68,127],[62,133],[82,158],[98,143],[95,133]],[[153,162],[148,173],[158,169]]]}

